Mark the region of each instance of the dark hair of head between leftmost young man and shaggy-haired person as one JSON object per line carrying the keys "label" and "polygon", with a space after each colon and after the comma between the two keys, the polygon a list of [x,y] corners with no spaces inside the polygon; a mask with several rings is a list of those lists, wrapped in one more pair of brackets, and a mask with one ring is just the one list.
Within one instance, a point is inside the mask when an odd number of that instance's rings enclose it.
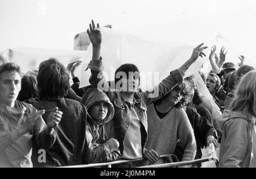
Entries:
{"label": "dark hair of head between leftmost young man and shaggy-haired person", "polygon": [[22,77],[21,90],[17,97],[18,101],[24,101],[30,98],[38,98],[38,86],[34,76],[25,75]]}

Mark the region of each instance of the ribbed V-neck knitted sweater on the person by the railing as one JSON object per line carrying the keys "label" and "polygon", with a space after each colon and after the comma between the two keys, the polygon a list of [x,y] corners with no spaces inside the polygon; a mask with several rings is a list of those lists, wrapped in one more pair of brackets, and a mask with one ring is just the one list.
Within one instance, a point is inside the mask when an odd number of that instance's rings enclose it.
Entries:
{"label": "ribbed V-neck knitted sweater on the person by the railing", "polygon": [[196,140],[188,116],[183,108],[173,107],[162,119],[156,114],[154,104],[148,106],[148,138],[146,149],[158,155],[174,153],[177,140],[184,148],[182,161],[195,159]]}

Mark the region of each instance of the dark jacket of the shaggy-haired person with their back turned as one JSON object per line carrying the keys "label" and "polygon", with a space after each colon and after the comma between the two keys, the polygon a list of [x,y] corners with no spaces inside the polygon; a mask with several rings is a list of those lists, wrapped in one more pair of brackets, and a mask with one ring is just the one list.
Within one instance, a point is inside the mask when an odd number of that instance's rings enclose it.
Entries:
{"label": "dark jacket of the shaggy-haired person with their back turned", "polygon": [[[60,123],[55,127],[57,138],[51,148],[46,150],[46,163],[36,166],[53,167],[85,164],[86,118],[87,111],[80,102],[67,98],[56,98],[34,103],[37,110],[46,110],[42,116],[47,120],[55,107],[63,112]],[[37,153],[34,153],[36,159]],[[34,161],[37,162],[37,161]]]}

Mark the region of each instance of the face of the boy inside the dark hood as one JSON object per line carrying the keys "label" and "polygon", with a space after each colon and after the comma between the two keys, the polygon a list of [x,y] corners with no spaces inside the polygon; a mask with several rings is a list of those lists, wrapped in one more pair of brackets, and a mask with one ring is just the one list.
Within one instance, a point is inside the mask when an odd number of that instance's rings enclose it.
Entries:
{"label": "face of the boy inside the dark hood", "polygon": [[89,113],[96,123],[100,123],[108,115],[109,105],[106,102],[97,102],[89,109]]}

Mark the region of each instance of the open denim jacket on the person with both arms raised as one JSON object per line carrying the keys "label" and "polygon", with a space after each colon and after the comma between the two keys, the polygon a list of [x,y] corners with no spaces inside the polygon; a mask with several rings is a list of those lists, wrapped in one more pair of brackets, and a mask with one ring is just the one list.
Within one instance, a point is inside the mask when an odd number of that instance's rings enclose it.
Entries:
{"label": "open denim jacket on the person with both arms raised", "polygon": [[[122,98],[121,93],[117,90],[110,89],[108,82],[105,80],[102,73],[103,65],[101,60],[92,59],[88,64],[88,68],[91,69],[91,76],[89,82],[92,87],[97,88],[101,85],[102,90],[108,95],[110,101],[114,105],[115,114],[113,117],[114,130],[117,133],[117,139],[120,144],[121,154],[123,153],[123,140],[125,134],[131,123],[131,111],[125,103],[125,99]],[[135,92],[134,94],[134,110],[136,111],[139,120],[142,123],[141,126],[141,141],[142,148],[147,140],[147,105],[157,101],[164,95],[168,94],[172,88],[179,82],[183,81],[184,73],[176,69],[170,73],[158,86],[155,86],[151,91]]]}

